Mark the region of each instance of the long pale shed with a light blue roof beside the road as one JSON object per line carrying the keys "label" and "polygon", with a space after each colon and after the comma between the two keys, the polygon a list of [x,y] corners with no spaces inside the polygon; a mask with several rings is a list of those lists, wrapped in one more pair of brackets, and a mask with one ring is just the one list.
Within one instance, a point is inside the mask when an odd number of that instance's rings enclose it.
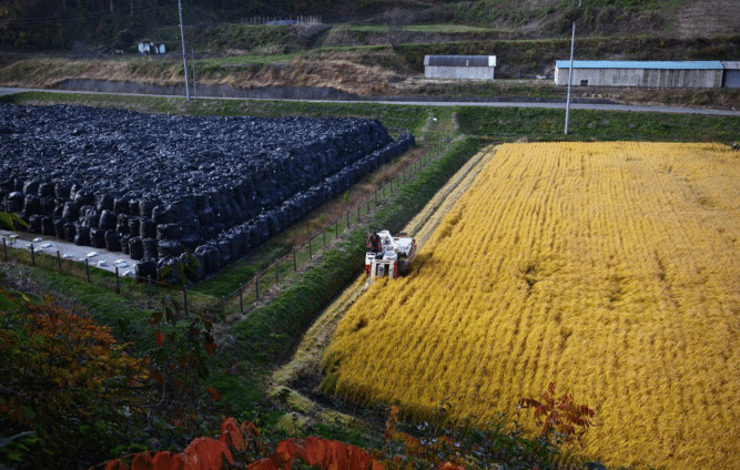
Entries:
{"label": "long pale shed with a light blue roof beside the road", "polygon": [[[607,61],[572,62],[572,84],[589,86],[722,88],[721,61]],[[555,62],[555,84],[567,85],[570,61]]]}

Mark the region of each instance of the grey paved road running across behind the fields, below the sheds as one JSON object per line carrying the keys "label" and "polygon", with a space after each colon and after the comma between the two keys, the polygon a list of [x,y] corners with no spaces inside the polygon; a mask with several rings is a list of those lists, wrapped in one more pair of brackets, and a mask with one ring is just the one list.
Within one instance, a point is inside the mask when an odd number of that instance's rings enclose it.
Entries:
{"label": "grey paved road running across behind the fields, below the sheds", "polygon": [[[54,92],[54,93],[97,93],[97,92],[85,92],[85,91],[67,91],[67,90],[33,90],[33,89],[21,89],[21,88],[0,88],[0,95],[3,94],[13,94],[27,91],[44,91],[44,92]],[[110,93],[102,93],[110,94]],[[151,96],[151,95],[148,95]],[[171,95],[169,98],[172,98]],[[184,96],[183,96],[184,98]],[[201,96],[205,99],[219,99],[219,100],[244,100],[243,98],[222,98],[222,96]],[[327,100],[306,100],[306,101],[318,101],[318,102],[332,102]],[[356,101],[353,101],[353,103]],[[362,102],[362,101],[361,101]],[[511,102],[511,101],[396,101],[396,100],[377,100],[377,101],[367,101],[368,103],[379,103],[379,104],[403,104],[403,105],[424,105],[424,106],[490,106],[490,108],[545,108],[545,109],[556,109],[565,110],[566,103],[547,103],[547,102]],[[740,116],[740,111],[737,110],[708,110],[702,108],[676,108],[676,106],[641,106],[641,105],[631,105],[631,104],[592,104],[592,103],[571,103],[571,110],[601,110],[601,111],[630,111],[630,112],[640,112],[640,113],[675,113],[675,114],[700,114],[700,115],[718,115],[718,116]]]}

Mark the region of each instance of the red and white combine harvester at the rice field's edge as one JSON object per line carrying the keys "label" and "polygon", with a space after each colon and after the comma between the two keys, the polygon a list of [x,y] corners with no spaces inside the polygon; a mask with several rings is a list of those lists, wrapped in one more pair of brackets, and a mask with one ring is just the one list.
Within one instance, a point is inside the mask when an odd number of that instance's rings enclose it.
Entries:
{"label": "red and white combine harvester at the rice field's edge", "polygon": [[369,285],[375,277],[397,279],[408,273],[416,256],[416,241],[405,232],[392,236],[391,232],[381,231],[367,237],[366,251],[365,273]]}

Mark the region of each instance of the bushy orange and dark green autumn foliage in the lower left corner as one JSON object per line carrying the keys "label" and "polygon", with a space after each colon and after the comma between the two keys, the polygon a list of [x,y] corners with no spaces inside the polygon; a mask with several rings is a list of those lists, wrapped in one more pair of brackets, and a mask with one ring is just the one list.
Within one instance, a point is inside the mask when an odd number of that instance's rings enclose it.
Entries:
{"label": "bushy orange and dark green autumn foliage in the lower left corner", "polygon": [[[148,389],[149,364],[126,354],[109,328],[51,299],[0,289],[0,437],[32,432],[36,468],[54,456],[94,458],[118,442],[126,410]],[[59,463],[59,462],[57,462]]]}

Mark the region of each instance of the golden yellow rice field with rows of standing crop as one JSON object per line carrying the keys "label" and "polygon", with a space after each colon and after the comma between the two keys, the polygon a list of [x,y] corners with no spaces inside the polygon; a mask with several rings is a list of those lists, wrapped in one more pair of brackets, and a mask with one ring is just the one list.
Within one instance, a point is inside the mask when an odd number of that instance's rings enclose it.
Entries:
{"label": "golden yellow rice field with rows of standing crop", "polygon": [[724,145],[507,144],[325,364],[341,397],[480,422],[554,381],[597,410],[592,458],[740,468],[739,245]]}

